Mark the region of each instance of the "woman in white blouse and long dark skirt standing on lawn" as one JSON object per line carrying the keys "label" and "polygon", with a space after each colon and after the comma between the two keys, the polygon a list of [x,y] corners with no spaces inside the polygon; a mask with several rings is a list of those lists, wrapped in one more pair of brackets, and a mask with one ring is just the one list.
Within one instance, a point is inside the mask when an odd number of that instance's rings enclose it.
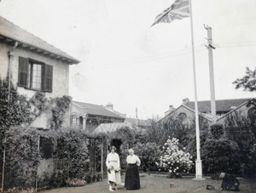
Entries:
{"label": "woman in white blouse and long dark skirt standing on lawn", "polygon": [[125,188],[126,190],[137,190],[140,189],[140,177],[137,167],[140,166],[140,159],[134,155],[132,149],[128,150],[129,156],[126,158],[127,168],[125,173]]}

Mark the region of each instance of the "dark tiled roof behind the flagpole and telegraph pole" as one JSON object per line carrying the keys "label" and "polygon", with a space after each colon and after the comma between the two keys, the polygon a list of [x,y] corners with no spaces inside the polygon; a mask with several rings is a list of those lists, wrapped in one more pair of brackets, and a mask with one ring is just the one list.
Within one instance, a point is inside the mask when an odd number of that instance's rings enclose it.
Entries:
{"label": "dark tiled roof behind the flagpole and telegraph pole", "polygon": [[[232,110],[233,107],[238,107],[246,103],[249,99],[219,99],[216,100],[216,111],[217,112],[227,112]],[[184,104],[195,111],[195,101],[189,101]],[[200,112],[209,112],[211,111],[211,100],[198,101],[198,111]]]}

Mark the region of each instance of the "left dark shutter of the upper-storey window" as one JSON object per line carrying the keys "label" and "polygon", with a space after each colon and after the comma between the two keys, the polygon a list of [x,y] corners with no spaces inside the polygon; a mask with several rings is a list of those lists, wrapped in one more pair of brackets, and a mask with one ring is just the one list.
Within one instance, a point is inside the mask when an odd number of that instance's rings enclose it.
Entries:
{"label": "left dark shutter of the upper-storey window", "polygon": [[28,59],[19,57],[19,86],[27,87]]}

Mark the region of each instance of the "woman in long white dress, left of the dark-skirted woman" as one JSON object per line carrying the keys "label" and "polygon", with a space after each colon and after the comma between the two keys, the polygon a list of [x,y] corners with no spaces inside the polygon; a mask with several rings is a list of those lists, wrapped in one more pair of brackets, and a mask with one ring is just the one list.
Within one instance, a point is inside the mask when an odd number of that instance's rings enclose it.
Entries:
{"label": "woman in long white dress, left of the dark-skirted woman", "polygon": [[119,155],[114,152],[115,150],[116,148],[112,146],[111,152],[108,154],[106,159],[109,191],[113,191],[113,189],[117,190],[117,184],[121,184],[120,160]]}

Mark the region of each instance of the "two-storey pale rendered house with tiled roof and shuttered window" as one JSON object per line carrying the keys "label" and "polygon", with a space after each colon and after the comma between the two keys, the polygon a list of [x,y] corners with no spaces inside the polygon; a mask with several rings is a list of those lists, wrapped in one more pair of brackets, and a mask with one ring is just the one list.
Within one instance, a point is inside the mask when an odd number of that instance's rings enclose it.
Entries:
{"label": "two-storey pale rendered house with tiled roof and shuttered window", "polygon": [[[79,60],[46,43],[0,16],[0,78],[8,76],[19,94],[30,99],[36,92],[47,98],[68,95],[69,65]],[[69,112],[63,126],[70,125]],[[49,115],[32,122],[34,128],[49,128]]]}

